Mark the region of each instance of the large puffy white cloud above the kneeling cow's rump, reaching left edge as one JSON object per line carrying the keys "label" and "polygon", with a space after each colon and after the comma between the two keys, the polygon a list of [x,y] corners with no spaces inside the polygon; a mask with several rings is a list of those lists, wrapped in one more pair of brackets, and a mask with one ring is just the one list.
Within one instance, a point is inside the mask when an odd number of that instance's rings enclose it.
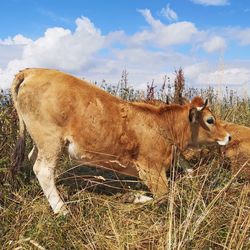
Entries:
{"label": "large puffy white cloud above the kneeling cow's rump, reaching left edge", "polygon": [[35,41],[15,36],[3,40],[4,44],[26,43],[21,58],[8,62],[0,75],[0,87],[6,88],[18,70],[25,67],[46,67],[78,73],[90,67],[94,55],[105,42],[100,30],[86,18],[76,19],[76,29],[71,32],[61,27],[49,28]]}

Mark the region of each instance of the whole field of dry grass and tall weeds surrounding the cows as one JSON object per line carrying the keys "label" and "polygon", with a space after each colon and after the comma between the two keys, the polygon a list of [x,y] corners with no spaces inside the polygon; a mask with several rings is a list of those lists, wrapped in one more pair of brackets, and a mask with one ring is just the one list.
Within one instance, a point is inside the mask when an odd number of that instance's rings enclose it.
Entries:
{"label": "whole field of dry grass and tall weeds surrounding the cows", "polygon": [[[143,96],[123,84],[117,89],[104,83],[103,88],[130,100],[165,98],[163,88],[155,92],[148,86]],[[211,88],[185,91],[188,98],[195,94],[207,97],[221,118],[250,126],[249,99],[228,90],[222,100]],[[169,173],[168,201],[140,205],[124,202],[128,191],[146,191],[139,180],[76,165],[62,156],[57,186],[70,214],[55,216],[27,158],[16,179],[9,177],[17,128],[10,95],[1,92],[1,249],[250,249],[249,184],[232,176],[216,153],[192,160],[192,175],[180,171],[177,156]],[[27,137],[26,157],[31,147]]]}

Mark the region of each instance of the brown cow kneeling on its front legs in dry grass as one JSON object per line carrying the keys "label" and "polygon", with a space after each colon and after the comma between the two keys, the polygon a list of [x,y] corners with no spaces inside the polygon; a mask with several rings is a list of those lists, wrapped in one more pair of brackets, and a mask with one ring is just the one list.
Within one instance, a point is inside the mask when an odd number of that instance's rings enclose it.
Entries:
{"label": "brown cow kneeling on its front legs in dry grass", "polygon": [[160,197],[168,191],[171,145],[226,145],[231,138],[200,97],[183,106],[132,103],[85,80],[39,68],[20,71],[11,92],[20,123],[13,169],[23,160],[27,130],[38,151],[33,170],[54,213],[67,213],[54,180],[63,149],[88,165],[139,177]]}

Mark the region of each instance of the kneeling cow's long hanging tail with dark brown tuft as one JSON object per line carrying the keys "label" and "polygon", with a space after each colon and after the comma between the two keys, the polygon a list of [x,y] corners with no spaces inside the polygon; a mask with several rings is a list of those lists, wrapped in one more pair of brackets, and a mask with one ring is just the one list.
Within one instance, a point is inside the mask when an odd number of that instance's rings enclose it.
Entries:
{"label": "kneeling cow's long hanging tail with dark brown tuft", "polygon": [[18,140],[16,143],[15,151],[13,154],[13,160],[12,160],[12,165],[10,169],[10,174],[12,177],[16,175],[18,170],[21,168],[23,160],[24,160],[24,153],[25,153],[25,133],[26,133],[26,128],[25,124],[19,109],[18,101],[17,101],[17,96],[19,92],[19,88],[24,81],[24,72],[20,71],[14,78],[12,86],[11,86],[11,94],[12,94],[12,100],[14,102],[14,106],[17,111],[17,115],[19,118],[19,136]]}

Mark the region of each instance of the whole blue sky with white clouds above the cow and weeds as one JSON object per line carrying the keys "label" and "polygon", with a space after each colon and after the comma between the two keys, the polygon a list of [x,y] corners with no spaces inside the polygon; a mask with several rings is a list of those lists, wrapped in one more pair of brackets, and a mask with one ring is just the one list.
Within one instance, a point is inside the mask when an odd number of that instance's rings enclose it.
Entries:
{"label": "whole blue sky with white clouds above the cow and weeds", "polygon": [[145,89],[184,71],[194,87],[250,94],[248,0],[0,1],[0,88],[26,67]]}

